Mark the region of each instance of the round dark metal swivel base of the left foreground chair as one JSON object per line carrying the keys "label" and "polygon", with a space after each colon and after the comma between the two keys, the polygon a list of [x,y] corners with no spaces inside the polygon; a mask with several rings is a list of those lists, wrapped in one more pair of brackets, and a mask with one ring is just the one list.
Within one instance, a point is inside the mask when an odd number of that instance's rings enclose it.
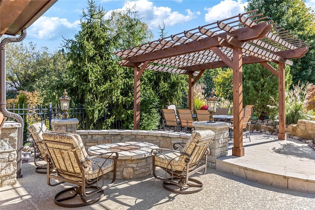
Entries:
{"label": "round dark metal swivel base of the left foreground chair", "polygon": [[[90,186],[86,189],[89,188],[94,188],[97,189],[96,186]],[[66,194],[69,194],[66,197]],[[81,192],[81,187],[71,187],[68,189],[65,189],[63,191],[60,191],[59,193],[56,194],[55,196],[55,204],[61,207],[67,207],[67,208],[76,208],[76,207],[84,207],[84,206],[89,206],[91,204],[94,204],[95,202],[98,202],[102,197],[104,196],[104,191],[100,190],[99,192],[95,193],[95,195],[92,195],[92,199],[87,200],[86,196],[83,196]],[[80,197],[81,202],[74,203],[74,201],[70,201],[71,199],[77,199],[76,197]]]}

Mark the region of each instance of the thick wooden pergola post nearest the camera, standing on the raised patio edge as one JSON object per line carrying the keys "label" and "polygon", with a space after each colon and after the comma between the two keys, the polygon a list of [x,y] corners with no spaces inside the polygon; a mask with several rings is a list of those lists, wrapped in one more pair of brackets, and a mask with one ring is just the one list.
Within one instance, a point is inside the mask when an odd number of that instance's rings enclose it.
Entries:
{"label": "thick wooden pergola post nearest the camera, standing on the raised patio edge", "polygon": [[242,48],[233,46],[233,121],[234,121],[234,146],[232,155],[244,156],[243,147],[243,59]]}

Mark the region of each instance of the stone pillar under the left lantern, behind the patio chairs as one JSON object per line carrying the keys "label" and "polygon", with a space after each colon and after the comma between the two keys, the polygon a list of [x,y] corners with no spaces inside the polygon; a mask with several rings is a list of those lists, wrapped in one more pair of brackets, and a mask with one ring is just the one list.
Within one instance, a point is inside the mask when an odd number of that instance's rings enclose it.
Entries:
{"label": "stone pillar under the left lantern, behind the patio chairs", "polygon": [[77,133],[77,124],[79,120],[76,118],[67,119],[52,119],[51,125],[53,126],[53,131],[61,133]]}

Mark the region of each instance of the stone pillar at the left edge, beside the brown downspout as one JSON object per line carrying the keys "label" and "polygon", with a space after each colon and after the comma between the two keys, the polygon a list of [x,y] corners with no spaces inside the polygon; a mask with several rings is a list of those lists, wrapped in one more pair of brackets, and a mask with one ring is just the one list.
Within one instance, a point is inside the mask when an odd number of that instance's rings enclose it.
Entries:
{"label": "stone pillar at the left edge, beside the brown downspout", "polygon": [[17,173],[17,122],[5,122],[0,130],[0,187],[16,183]]}

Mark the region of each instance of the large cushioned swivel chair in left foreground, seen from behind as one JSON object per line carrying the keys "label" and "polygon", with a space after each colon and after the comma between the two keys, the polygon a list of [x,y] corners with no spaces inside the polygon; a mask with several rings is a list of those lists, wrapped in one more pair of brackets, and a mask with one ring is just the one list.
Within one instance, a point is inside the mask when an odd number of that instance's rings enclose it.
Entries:
{"label": "large cushioned swivel chair in left foreground, seen from behind", "polygon": [[[48,166],[52,164],[56,171],[51,173],[47,170],[47,184],[56,186],[68,182],[76,185],[57,193],[55,204],[61,207],[83,207],[99,201],[104,196],[104,190],[115,182],[118,153],[88,156],[77,134],[47,131],[42,136],[47,149]],[[109,158],[99,158],[105,154]],[[110,172],[113,173],[111,183],[105,184],[109,181],[105,180],[104,175]]]}

